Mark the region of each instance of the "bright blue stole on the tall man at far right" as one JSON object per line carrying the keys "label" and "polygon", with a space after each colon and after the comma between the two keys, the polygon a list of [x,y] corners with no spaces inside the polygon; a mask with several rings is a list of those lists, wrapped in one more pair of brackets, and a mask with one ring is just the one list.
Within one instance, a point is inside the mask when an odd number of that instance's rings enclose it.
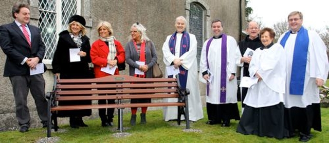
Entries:
{"label": "bright blue stole on the tall man at far right", "polygon": [[[284,47],[290,32],[287,32],[280,44]],[[308,32],[304,27],[301,27],[297,33],[294,56],[293,56],[293,67],[291,68],[290,88],[289,94],[303,95],[304,94],[304,81],[307,64],[307,52],[308,52]]]}

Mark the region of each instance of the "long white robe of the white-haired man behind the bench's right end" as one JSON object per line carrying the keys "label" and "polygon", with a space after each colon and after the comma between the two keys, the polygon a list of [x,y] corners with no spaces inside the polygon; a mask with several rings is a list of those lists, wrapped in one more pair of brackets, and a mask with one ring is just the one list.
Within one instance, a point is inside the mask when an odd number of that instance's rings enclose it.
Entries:
{"label": "long white robe of the white-haired man behind the bench's right end", "polygon": [[[196,60],[196,46],[197,41],[195,35],[190,34],[190,49],[183,55],[179,57],[180,53],[180,42],[181,42],[181,33],[177,33],[176,45],[175,45],[175,54],[172,54],[169,49],[169,39],[171,35],[167,36],[166,42],[163,43],[162,52],[163,52],[163,62],[166,66],[170,66],[175,58],[181,59],[182,67],[188,70],[187,85],[186,88],[190,90],[190,95],[188,95],[189,102],[189,118],[192,121],[197,121],[204,117],[199,84],[198,84],[198,74],[197,74],[197,60]],[[167,71],[165,77],[168,77]],[[175,77],[175,75],[174,75]],[[166,98],[163,99],[166,102],[177,101],[177,98]],[[177,119],[177,107],[163,107],[163,118],[165,121]],[[181,119],[185,119],[184,116],[181,116]]]}

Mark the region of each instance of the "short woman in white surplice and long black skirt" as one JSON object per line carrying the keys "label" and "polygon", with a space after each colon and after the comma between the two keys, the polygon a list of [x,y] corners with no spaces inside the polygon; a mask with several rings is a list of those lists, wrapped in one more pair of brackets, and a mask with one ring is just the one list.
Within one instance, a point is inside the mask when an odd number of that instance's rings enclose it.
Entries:
{"label": "short woman in white surplice and long black skirt", "polygon": [[258,82],[248,89],[246,106],[236,130],[281,139],[288,137],[283,118],[285,52],[280,44],[272,43],[275,37],[272,29],[262,29],[260,36],[263,46],[255,50],[249,65],[250,76],[257,77]]}

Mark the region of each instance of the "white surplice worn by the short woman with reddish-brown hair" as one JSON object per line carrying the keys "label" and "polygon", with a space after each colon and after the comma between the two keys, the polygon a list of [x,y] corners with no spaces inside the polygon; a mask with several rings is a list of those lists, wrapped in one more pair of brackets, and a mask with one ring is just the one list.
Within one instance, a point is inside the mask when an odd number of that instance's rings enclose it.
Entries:
{"label": "white surplice worn by the short woman with reddish-brown hair", "polygon": [[255,50],[250,65],[250,77],[258,73],[262,80],[248,89],[244,104],[254,107],[268,107],[283,103],[285,92],[285,53],[280,44],[268,49]]}

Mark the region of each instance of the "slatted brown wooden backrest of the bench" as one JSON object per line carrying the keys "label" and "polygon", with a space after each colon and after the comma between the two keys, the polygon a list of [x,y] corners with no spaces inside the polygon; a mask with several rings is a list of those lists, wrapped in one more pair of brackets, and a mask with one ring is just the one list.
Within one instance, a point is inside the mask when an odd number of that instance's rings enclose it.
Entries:
{"label": "slatted brown wooden backrest of the bench", "polygon": [[54,92],[55,100],[96,100],[178,97],[178,89],[176,78],[112,75],[93,79],[59,79]]}

